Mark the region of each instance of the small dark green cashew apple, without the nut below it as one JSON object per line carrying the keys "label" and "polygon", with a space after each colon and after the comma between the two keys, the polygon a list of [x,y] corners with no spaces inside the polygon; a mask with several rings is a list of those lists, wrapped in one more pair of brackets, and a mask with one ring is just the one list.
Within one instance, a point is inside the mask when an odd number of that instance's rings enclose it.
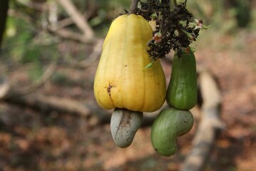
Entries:
{"label": "small dark green cashew apple, without the nut below it", "polygon": [[196,63],[193,51],[183,52],[180,57],[173,58],[173,68],[170,83],[166,93],[168,105],[190,110],[198,100]]}

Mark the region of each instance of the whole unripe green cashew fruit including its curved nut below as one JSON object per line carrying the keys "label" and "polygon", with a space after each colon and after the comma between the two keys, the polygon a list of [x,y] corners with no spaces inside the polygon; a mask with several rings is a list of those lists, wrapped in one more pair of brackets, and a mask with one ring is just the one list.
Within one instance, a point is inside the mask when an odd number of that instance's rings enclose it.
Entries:
{"label": "whole unripe green cashew fruit including its curved nut below", "polygon": [[187,48],[173,58],[172,73],[166,94],[170,108],[162,110],[151,129],[151,142],[160,155],[171,156],[177,150],[176,138],[193,127],[190,109],[197,103],[196,63],[193,51]]}

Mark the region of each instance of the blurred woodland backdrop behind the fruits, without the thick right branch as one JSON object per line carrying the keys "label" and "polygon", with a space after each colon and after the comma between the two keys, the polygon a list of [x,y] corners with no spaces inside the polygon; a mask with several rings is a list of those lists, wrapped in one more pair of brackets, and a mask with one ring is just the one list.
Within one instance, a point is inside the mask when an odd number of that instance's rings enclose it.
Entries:
{"label": "blurred woodland backdrop behind the fruits, without the thick right branch", "polygon": [[[0,40],[0,170],[181,169],[198,123],[178,138],[173,157],[153,150],[152,119],[121,149],[111,138],[111,110],[93,95],[103,38],[130,0],[4,0],[1,32],[8,3]],[[225,129],[204,170],[254,170],[256,1],[188,1],[187,9],[209,26],[193,47],[198,68],[213,74],[222,94]],[[167,81],[170,60],[161,60]]]}

